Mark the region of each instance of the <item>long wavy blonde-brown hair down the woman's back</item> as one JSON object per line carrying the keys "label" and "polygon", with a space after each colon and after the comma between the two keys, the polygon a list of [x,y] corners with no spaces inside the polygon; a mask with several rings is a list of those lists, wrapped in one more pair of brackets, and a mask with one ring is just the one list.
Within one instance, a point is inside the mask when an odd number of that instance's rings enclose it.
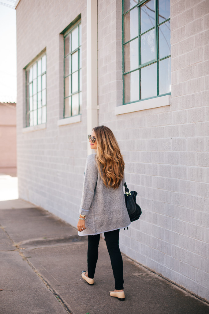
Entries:
{"label": "long wavy blonde-brown hair down the woman's back", "polygon": [[100,176],[107,187],[118,188],[123,180],[124,160],[112,131],[104,125],[93,128],[96,141],[96,161]]}

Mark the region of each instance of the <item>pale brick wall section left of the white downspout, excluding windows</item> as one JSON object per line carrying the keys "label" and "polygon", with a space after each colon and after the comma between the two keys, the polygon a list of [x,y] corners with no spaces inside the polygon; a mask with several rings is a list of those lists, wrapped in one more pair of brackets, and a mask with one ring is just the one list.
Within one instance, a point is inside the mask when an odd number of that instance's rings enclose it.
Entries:
{"label": "pale brick wall section left of the white downspout, excluding windows", "polygon": [[[79,14],[82,19],[82,121],[57,126],[63,112],[63,38],[60,33]],[[61,38],[60,38],[61,37]],[[23,133],[24,67],[46,47],[46,129]],[[77,225],[87,154],[86,1],[21,0],[17,6],[17,141],[19,197]]]}

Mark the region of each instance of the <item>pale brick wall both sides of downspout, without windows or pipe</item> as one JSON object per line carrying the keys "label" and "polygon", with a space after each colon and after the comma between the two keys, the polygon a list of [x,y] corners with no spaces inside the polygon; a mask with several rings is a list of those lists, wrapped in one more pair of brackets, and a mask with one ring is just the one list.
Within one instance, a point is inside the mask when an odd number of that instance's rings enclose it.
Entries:
{"label": "pale brick wall both sides of downspout, without windows or pipe", "polygon": [[[63,109],[62,32],[81,14],[81,122]],[[122,105],[122,1],[98,0],[99,124],[112,129],[128,187],[143,214],[121,230],[122,251],[208,299],[208,1],[171,0],[170,106],[115,115]],[[46,47],[47,124],[23,133],[24,67]],[[86,134],[86,1],[21,0],[17,6],[19,196],[77,225]],[[91,130],[89,130],[91,132]]]}

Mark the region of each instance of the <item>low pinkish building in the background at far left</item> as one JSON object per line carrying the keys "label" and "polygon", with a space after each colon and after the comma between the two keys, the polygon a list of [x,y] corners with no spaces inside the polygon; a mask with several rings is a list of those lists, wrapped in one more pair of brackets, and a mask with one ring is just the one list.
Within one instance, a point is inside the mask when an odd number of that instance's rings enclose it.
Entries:
{"label": "low pinkish building in the background at far left", "polygon": [[0,173],[16,175],[16,104],[0,102]]}

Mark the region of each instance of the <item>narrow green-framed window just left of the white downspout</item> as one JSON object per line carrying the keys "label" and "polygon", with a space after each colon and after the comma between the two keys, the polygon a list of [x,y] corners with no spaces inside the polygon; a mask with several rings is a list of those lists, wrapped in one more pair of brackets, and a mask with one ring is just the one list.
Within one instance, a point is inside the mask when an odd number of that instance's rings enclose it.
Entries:
{"label": "narrow green-framed window just left of the white downspout", "polygon": [[64,118],[81,114],[81,21],[64,34]]}

